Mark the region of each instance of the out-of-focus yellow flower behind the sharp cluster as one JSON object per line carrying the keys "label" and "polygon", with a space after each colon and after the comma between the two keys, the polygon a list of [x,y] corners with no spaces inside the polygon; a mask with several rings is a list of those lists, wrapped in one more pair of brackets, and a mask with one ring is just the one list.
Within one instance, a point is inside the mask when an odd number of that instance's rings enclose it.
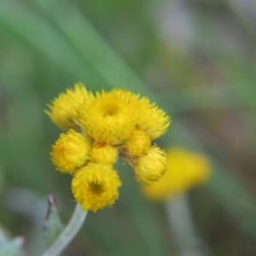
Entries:
{"label": "out-of-focus yellow flower behind the sharp cluster", "polygon": [[210,169],[210,161],[205,155],[182,148],[170,148],[167,150],[166,174],[157,182],[143,185],[143,192],[152,200],[182,194],[207,181]]}

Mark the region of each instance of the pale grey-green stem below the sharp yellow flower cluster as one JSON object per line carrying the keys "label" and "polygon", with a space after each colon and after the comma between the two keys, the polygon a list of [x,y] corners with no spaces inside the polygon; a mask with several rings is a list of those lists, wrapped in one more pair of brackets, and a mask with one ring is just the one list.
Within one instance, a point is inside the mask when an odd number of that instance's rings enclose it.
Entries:
{"label": "pale grey-green stem below the sharp yellow flower cluster", "polygon": [[73,215],[70,218],[67,226],[61,232],[61,235],[57,237],[54,243],[43,253],[42,256],[58,256],[73,240],[79,230],[84,224],[84,220],[87,216],[87,211],[84,211],[79,204],[76,205]]}

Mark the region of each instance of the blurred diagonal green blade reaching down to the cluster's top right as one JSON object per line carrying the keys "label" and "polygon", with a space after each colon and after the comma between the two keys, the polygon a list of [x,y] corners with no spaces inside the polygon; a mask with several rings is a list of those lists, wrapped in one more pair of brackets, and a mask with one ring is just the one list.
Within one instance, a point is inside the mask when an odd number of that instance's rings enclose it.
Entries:
{"label": "blurred diagonal green blade reaching down to the cluster's top right", "polygon": [[108,46],[78,8],[71,3],[58,6],[53,18],[84,59],[90,62],[111,87],[122,87],[143,95],[148,94],[147,87]]}

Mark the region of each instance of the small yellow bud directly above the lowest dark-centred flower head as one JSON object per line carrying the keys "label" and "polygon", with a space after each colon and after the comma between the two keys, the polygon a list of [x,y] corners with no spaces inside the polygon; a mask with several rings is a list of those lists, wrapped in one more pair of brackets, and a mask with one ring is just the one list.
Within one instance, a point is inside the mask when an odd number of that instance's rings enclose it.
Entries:
{"label": "small yellow bud directly above the lowest dark-centred flower head", "polygon": [[90,160],[96,164],[113,166],[118,158],[118,150],[108,144],[95,143],[90,148]]}

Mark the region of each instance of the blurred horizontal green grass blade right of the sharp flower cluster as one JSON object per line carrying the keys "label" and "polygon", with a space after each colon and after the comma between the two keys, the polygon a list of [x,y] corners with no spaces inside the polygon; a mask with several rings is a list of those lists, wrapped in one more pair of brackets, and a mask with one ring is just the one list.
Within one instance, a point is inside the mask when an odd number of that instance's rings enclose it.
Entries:
{"label": "blurred horizontal green grass blade right of the sharp flower cluster", "polygon": [[[170,102],[172,113],[256,107],[255,100],[252,100],[256,93],[253,92],[251,84],[237,84],[237,93],[234,92],[234,84],[222,84],[221,91],[219,87],[219,84],[216,84],[216,87],[193,86],[162,91],[158,94],[158,98],[162,102]],[[240,90],[247,91],[247,95],[241,96]]]}

